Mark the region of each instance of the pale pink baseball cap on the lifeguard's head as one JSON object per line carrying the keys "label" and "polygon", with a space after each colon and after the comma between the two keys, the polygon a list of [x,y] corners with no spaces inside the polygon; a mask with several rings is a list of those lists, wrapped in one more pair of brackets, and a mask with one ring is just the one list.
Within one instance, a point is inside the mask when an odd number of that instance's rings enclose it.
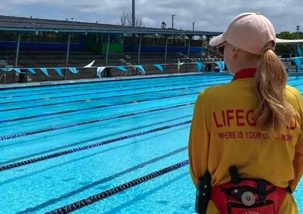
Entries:
{"label": "pale pink baseball cap on the lifeguard's head", "polygon": [[230,22],[223,34],[211,39],[210,46],[228,42],[240,50],[262,55],[264,46],[275,40],[275,28],[265,16],[260,13],[242,13]]}

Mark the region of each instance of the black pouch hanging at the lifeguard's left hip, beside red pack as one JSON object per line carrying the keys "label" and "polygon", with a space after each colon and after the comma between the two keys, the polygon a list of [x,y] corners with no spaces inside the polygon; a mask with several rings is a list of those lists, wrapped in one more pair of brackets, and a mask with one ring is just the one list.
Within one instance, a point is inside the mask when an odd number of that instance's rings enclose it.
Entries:
{"label": "black pouch hanging at the lifeguard's left hip, beside red pack", "polygon": [[206,214],[207,206],[211,196],[211,180],[209,172],[200,178],[196,187],[196,200],[194,211],[199,214]]}

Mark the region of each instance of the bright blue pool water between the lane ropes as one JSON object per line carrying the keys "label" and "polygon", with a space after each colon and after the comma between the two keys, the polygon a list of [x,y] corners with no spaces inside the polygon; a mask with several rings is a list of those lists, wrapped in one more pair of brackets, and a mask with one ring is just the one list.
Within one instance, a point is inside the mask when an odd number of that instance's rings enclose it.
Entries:
{"label": "bright blue pool water between the lane ropes", "polygon": [[[205,88],[204,84],[214,82],[217,79],[217,76],[204,77],[206,76],[200,77],[201,81],[207,80],[207,82],[201,83],[196,90],[190,89],[191,93],[198,93]],[[300,83],[300,79],[297,77],[290,79],[294,79],[294,81],[289,81],[291,84]],[[224,83],[229,80],[215,82]],[[196,81],[196,79],[192,81]],[[167,84],[170,84],[169,81]],[[107,85],[110,87],[111,84]],[[171,89],[174,87],[178,86],[171,86]],[[301,85],[296,86],[297,89],[303,90],[303,87],[300,87]],[[87,89],[88,87],[84,85],[83,88]],[[165,88],[169,89],[170,87],[166,86]],[[34,93],[41,93],[41,91],[37,90]],[[36,115],[43,112],[56,112],[99,104],[176,96],[162,100],[3,123],[0,124],[0,130],[1,133],[5,132],[9,135],[126,112],[194,102],[197,94],[178,97],[179,94],[185,93],[189,93],[188,89],[137,96],[129,95],[85,103],[37,107],[30,109],[31,111],[1,112],[0,115],[5,115],[5,118],[15,118],[27,114]],[[116,95],[123,95],[123,92],[118,92]],[[67,98],[67,100],[72,100],[72,98]],[[0,102],[2,102],[1,99]],[[47,102],[52,103],[53,101]],[[22,103],[23,106],[26,106],[24,104]],[[183,106],[1,141],[0,152],[3,157],[0,158],[0,162],[13,163],[189,120],[192,108],[192,105]],[[4,193],[0,194],[0,199],[3,201],[0,213],[44,213],[187,159],[189,126],[190,124],[180,125],[0,172],[2,175],[0,177],[0,192]],[[300,186],[300,188],[302,187]],[[295,196],[300,197],[296,193]],[[14,206],[10,205],[12,203]],[[164,209],[166,213],[192,213],[193,205],[194,188],[189,177],[188,167],[184,166],[73,213],[86,214],[96,213],[96,211],[113,214],[161,213]]]}

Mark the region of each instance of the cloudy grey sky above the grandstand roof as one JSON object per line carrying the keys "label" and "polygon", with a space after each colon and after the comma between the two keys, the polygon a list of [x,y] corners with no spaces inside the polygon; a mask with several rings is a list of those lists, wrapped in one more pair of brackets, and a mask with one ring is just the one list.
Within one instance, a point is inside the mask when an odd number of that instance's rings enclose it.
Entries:
{"label": "cloudy grey sky above the grandstand roof", "polygon": [[[117,24],[131,0],[0,0],[1,15],[33,18],[74,18],[76,21]],[[231,19],[243,12],[260,12],[274,24],[276,32],[303,29],[303,0],[136,0],[136,15],[145,26],[224,31]],[[303,30],[302,30],[303,31]]]}

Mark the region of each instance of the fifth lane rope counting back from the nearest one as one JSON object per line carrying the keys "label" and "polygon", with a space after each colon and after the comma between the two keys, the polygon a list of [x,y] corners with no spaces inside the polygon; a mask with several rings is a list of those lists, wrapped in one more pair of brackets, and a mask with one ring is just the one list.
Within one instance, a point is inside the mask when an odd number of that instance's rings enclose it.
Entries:
{"label": "fifth lane rope counting back from the nearest one", "polygon": [[2,110],[0,110],[0,112],[21,110],[21,109],[28,109],[28,108],[45,107],[45,106],[54,106],[54,105],[60,105],[60,104],[88,102],[88,101],[102,100],[102,99],[112,99],[112,98],[135,96],[135,95],[154,94],[154,93],[168,92],[168,91],[178,91],[178,90],[187,90],[187,89],[194,89],[194,88],[203,88],[203,87],[210,87],[210,86],[213,86],[213,85],[219,85],[219,84],[217,83],[217,84],[198,85],[198,86],[183,87],[183,88],[177,88],[177,89],[159,90],[159,91],[154,91],[154,92],[140,92],[140,93],[134,93],[134,94],[127,94],[127,95],[117,95],[117,96],[110,96],[110,97],[98,97],[98,98],[82,99],[82,100],[74,100],[74,101],[65,101],[65,102],[58,102],[58,103],[40,104],[40,105],[35,105],[35,106],[26,106],[26,107],[2,109]]}

